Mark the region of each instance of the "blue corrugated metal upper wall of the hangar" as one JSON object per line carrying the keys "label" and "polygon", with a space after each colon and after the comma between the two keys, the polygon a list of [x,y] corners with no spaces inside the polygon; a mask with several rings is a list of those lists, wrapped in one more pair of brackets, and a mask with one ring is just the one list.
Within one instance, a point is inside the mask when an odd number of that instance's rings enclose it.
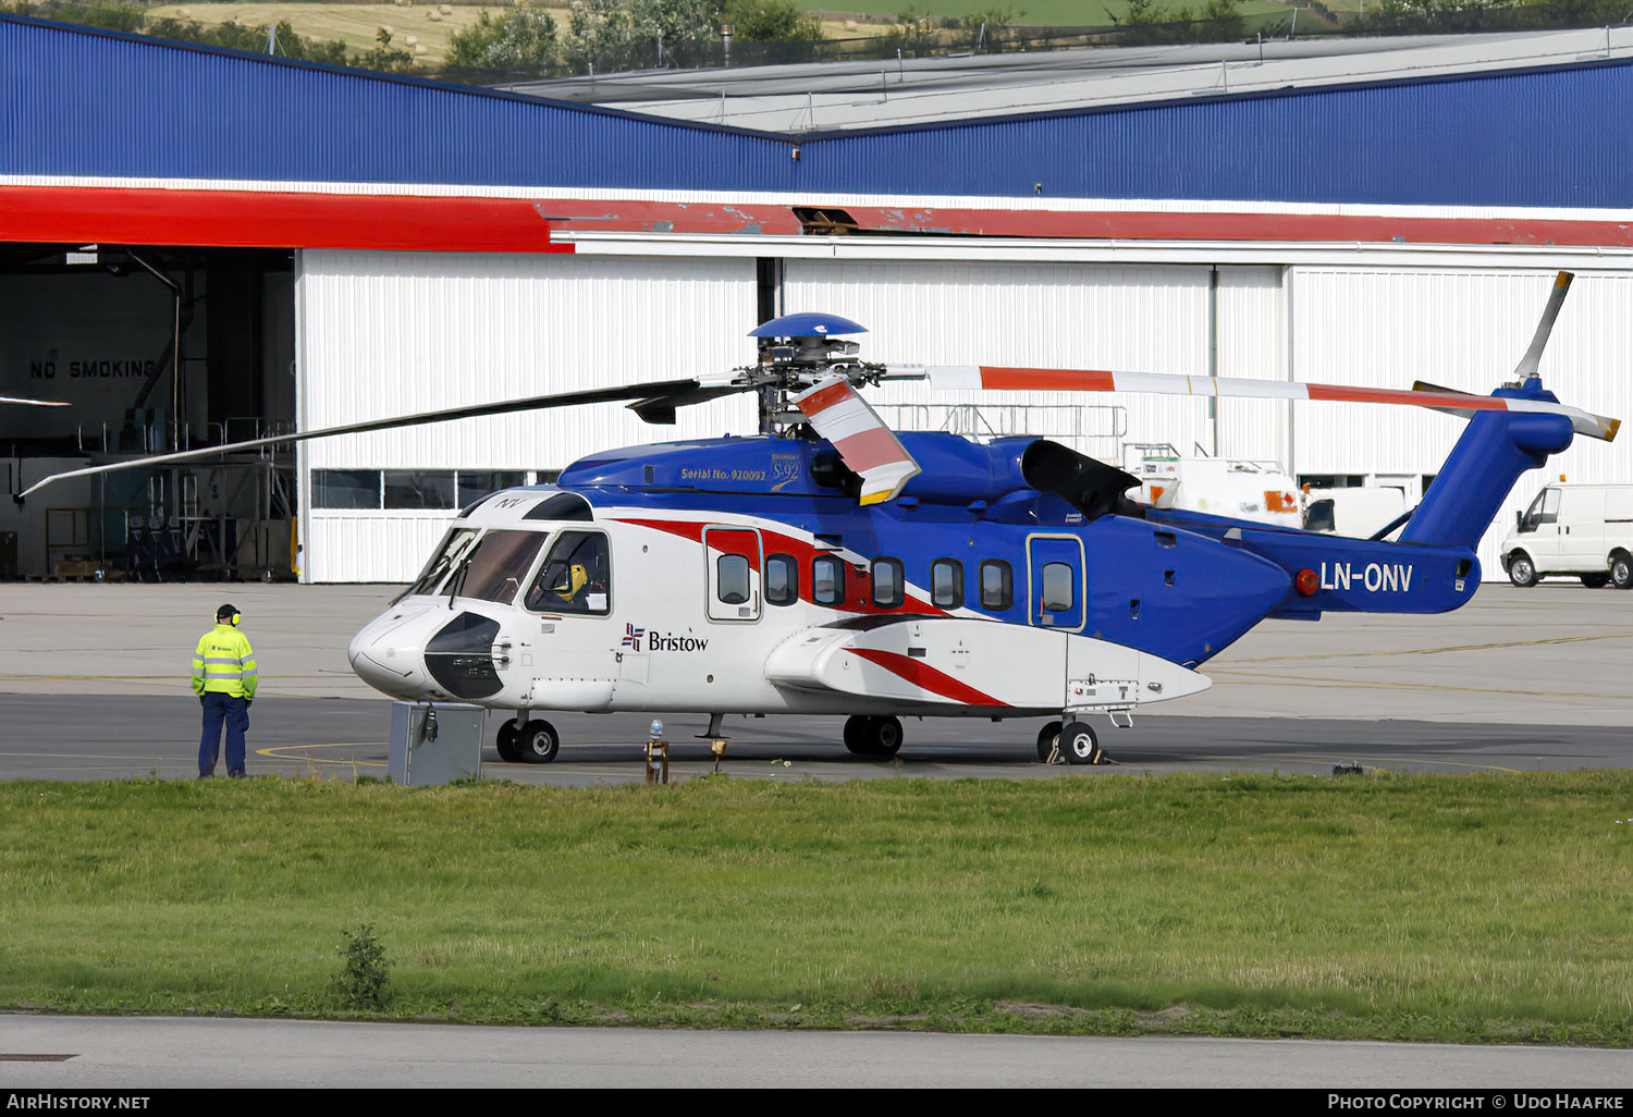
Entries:
{"label": "blue corrugated metal upper wall of the hangar", "polygon": [[1581,64],[779,137],[0,18],[0,173],[1623,207],[1630,75]]}

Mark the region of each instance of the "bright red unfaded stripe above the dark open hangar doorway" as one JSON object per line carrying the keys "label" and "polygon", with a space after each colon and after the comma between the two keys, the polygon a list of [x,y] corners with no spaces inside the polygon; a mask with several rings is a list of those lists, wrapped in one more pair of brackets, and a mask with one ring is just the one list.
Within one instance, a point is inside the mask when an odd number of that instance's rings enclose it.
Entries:
{"label": "bright red unfaded stripe above the dark open hangar doorway", "polygon": [[0,186],[0,240],[73,245],[572,251],[516,198]]}

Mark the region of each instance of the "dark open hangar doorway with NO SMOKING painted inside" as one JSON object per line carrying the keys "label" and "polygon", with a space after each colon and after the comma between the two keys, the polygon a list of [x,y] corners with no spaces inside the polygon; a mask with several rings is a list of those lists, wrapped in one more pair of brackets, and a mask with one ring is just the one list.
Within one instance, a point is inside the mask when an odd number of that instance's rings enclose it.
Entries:
{"label": "dark open hangar doorway with NO SMOKING painted inside", "polygon": [[[289,250],[0,245],[0,478],[294,423]],[[0,576],[247,578],[291,567],[292,456],[72,478],[0,508]]]}

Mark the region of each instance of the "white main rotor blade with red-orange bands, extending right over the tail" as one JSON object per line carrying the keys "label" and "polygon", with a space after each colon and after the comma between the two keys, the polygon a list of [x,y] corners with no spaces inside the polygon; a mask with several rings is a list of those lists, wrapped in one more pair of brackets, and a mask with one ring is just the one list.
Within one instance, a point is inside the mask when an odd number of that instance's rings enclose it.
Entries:
{"label": "white main rotor blade with red-orange bands, extending right over the tail", "polygon": [[1248,380],[1225,376],[1176,376],[1171,372],[1109,372],[1101,369],[1021,369],[988,364],[892,366],[900,377],[928,376],[931,387],[1004,392],[1151,392],[1158,395],[1235,397],[1254,400],[1333,400],[1349,403],[1408,403],[1448,412],[1538,412],[1564,415],[1577,434],[1610,441],[1622,420],[1594,415],[1564,403],[1517,400],[1504,395],[1463,392],[1408,392],[1401,389],[1303,384],[1297,380]]}

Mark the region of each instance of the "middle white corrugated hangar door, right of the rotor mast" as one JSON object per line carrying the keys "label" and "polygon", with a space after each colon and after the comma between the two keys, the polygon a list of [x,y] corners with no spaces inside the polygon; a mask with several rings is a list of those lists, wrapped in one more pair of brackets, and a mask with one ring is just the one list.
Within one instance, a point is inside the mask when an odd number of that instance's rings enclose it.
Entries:
{"label": "middle white corrugated hangar door, right of the rotor mast", "polygon": [[[1285,379],[1280,268],[1079,263],[828,263],[790,260],[789,310],[830,310],[869,328],[862,356],[921,364],[1006,364]],[[1127,465],[1132,447],[1279,461],[1287,405],[1071,392],[870,394],[910,429],[1039,434]],[[949,416],[949,405],[970,405]],[[981,429],[985,425],[985,431]]]}

